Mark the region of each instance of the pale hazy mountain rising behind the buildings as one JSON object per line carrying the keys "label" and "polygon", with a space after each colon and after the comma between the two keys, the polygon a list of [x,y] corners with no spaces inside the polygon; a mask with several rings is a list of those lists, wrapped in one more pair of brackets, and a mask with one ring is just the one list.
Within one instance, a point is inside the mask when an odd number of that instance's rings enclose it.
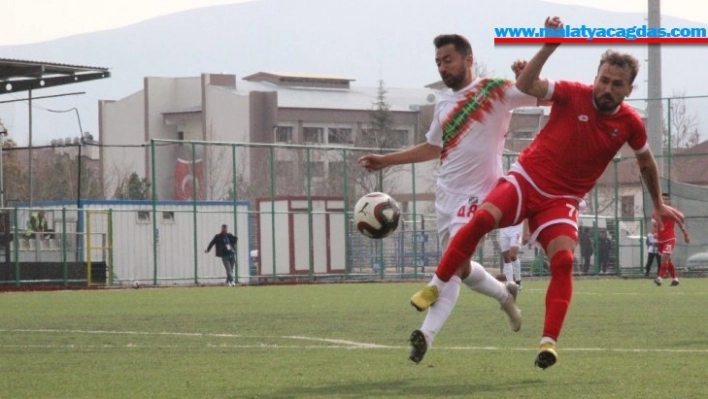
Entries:
{"label": "pale hazy mountain rising behind the buildings", "polygon": [[[540,27],[548,15],[566,24],[592,27],[642,25],[639,13],[613,13],[541,0],[257,0],[190,10],[142,23],[42,43],[0,46],[0,57],[111,68],[112,77],[80,85],[33,92],[34,96],[85,91],[34,102],[33,143],[77,136],[76,114],[49,112],[77,107],[81,127],[97,133],[99,99],[119,99],[142,88],[145,76],[196,76],[259,71],[344,75],[354,85],[421,87],[437,81],[432,39],[461,33],[475,58],[497,75],[511,77],[509,65],[530,58],[537,45],[494,46],[494,27]],[[665,17],[667,27],[708,27]],[[591,82],[606,45],[565,45],[548,62],[544,76]],[[646,59],[646,47],[619,50]],[[703,68],[708,49],[700,45],[664,46],[664,96],[708,94]],[[646,96],[646,66],[635,81],[633,97]],[[4,95],[0,101],[25,97]],[[689,101],[708,104],[708,98]],[[639,104],[638,104],[639,105]],[[0,104],[0,117],[11,136],[27,143],[25,103]]]}

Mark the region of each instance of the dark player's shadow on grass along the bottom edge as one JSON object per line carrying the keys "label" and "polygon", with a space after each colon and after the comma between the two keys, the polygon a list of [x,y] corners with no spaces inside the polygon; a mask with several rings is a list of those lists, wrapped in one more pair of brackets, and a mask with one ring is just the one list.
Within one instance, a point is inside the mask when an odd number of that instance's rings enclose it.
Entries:
{"label": "dark player's shadow on grass along the bottom edge", "polygon": [[520,390],[542,386],[543,380],[525,380],[511,384],[475,384],[474,382],[460,382],[445,386],[420,386],[409,380],[341,383],[319,387],[296,386],[290,387],[282,393],[277,393],[276,398],[307,398],[313,396],[334,396],[347,398],[391,398],[391,397],[446,397],[469,396],[471,392],[478,394],[492,393],[499,397],[509,397],[509,393],[518,393]]}

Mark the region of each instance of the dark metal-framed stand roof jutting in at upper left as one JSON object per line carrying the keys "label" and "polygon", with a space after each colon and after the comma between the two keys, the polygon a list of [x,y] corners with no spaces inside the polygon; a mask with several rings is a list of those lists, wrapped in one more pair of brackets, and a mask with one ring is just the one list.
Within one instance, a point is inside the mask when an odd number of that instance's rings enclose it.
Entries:
{"label": "dark metal-framed stand roof jutting in at upper left", "polygon": [[0,58],[0,94],[109,78],[108,68]]}

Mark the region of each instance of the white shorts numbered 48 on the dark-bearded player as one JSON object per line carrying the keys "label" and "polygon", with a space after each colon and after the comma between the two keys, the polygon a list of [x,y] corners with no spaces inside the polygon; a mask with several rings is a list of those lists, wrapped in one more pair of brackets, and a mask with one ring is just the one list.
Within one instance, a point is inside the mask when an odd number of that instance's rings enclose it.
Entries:
{"label": "white shorts numbered 48 on the dark-bearded player", "polygon": [[440,248],[447,248],[450,239],[457,230],[472,219],[477,207],[482,203],[484,195],[466,195],[447,192],[437,187],[435,193],[435,211],[438,222],[438,238]]}

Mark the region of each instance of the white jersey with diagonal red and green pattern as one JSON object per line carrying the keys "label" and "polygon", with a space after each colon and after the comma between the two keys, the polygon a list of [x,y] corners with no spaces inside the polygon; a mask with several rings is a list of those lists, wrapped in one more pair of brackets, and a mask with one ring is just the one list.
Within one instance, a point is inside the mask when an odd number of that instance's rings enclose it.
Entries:
{"label": "white jersey with diagonal red and green pattern", "polygon": [[504,79],[476,79],[460,91],[443,94],[425,135],[429,144],[443,149],[438,187],[486,196],[504,174],[501,155],[511,111],[535,104],[535,97]]}

